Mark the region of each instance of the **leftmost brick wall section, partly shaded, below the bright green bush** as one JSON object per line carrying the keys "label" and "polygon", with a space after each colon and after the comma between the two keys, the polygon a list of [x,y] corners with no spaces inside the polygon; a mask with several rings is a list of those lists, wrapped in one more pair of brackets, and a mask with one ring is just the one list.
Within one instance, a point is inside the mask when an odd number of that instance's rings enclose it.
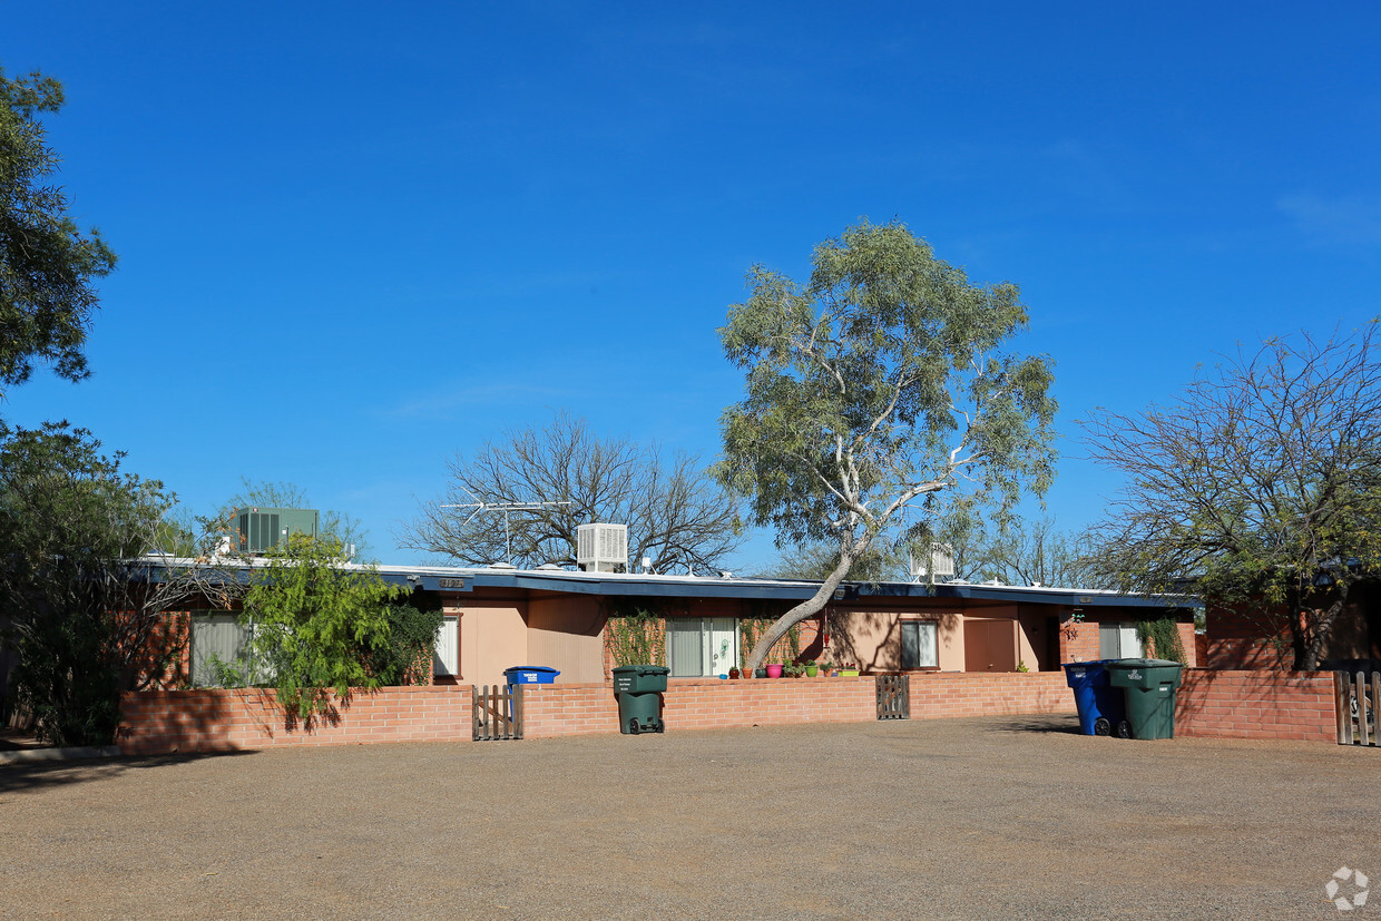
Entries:
{"label": "leftmost brick wall section, partly shaded, below the bright green bush", "polygon": [[356,693],[309,729],[289,725],[273,690],[127,693],[116,743],[124,754],[162,754],[470,737],[470,685],[438,685]]}

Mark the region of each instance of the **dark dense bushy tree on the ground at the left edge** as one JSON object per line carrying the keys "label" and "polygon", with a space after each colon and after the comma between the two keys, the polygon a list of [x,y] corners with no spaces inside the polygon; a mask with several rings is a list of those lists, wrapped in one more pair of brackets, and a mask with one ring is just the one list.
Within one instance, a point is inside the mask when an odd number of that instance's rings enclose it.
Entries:
{"label": "dark dense bushy tree on the ground at the left edge", "polygon": [[173,652],[151,639],[185,585],[146,583],[138,558],[174,497],[66,423],[0,424],[0,624],[18,700],[59,746],[110,744],[120,692],[157,681]]}

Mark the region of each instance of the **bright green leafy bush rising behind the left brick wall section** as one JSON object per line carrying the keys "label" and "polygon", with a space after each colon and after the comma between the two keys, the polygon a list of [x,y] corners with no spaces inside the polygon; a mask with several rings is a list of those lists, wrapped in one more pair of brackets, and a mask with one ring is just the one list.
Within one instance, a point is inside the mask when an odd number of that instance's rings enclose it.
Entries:
{"label": "bright green leafy bush rising behind the left brick wall section", "polygon": [[249,659],[272,675],[287,712],[327,712],[329,689],[348,699],[352,688],[381,685],[367,661],[388,648],[388,605],[400,594],[371,566],[347,565],[338,540],[291,534],[244,595]]}

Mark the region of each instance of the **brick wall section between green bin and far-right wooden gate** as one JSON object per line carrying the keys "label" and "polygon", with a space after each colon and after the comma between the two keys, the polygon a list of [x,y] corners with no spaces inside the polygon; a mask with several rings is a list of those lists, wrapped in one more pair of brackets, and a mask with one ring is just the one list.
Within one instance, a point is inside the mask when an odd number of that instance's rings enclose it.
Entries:
{"label": "brick wall section between green bin and far-right wooden gate", "polygon": [[1175,735],[1337,741],[1331,672],[1186,670]]}

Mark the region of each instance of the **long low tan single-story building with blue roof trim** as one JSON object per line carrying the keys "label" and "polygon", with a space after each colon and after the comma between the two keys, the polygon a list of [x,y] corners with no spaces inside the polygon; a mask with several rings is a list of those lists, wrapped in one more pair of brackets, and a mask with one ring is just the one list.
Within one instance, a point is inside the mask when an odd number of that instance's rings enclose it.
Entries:
{"label": "long low tan single-story building with blue roof trim", "polygon": [[[439,608],[441,684],[493,685],[504,668],[547,666],[558,682],[609,679],[628,630],[650,630],[673,677],[728,674],[766,624],[819,583],[512,568],[380,566]],[[865,672],[1055,671],[1063,661],[1142,655],[1137,624],[1178,623],[1189,664],[1193,612],[1159,598],[1000,584],[845,583],[822,616],[783,638],[776,661],[830,660]],[[203,684],[214,652],[233,659],[232,612],[193,612],[186,668]]]}

